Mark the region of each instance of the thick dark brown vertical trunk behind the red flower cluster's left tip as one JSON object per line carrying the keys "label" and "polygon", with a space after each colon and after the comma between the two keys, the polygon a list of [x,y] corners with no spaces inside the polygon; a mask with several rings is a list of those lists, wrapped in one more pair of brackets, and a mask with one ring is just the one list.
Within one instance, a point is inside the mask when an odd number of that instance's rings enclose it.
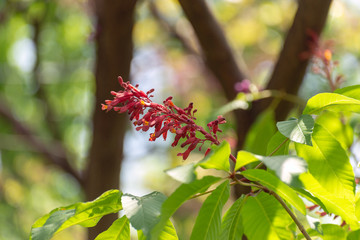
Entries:
{"label": "thick dark brown vertical trunk behind the red flower cluster's left tip", "polygon": [[[87,200],[93,200],[109,189],[119,189],[123,158],[126,116],[101,110],[110,99],[110,91],[120,89],[118,76],[129,79],[132,59],[134,10],[136,1],[94,0],[97,16],[96,33],[96,105],[93,114],[93,139],[85,176]],[[106,230],[117,218],[104,217],[89,229],[89,239]]]}

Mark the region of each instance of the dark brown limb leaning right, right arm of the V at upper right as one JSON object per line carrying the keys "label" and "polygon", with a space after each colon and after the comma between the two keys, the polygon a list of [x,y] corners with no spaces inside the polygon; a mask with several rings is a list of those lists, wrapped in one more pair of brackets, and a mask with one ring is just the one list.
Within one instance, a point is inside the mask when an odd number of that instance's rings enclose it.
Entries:
{"label": "dark brown limb leaning right, right arm of the V at upper right", "polygon": [[[283,49],[268,82],[267,89],[282,90],[296,95],[304,79],[308,59],[301,59],[300,55],[309,52],[309,34],[312,31],[317,36],[325,26],[332,0],[300,0],[293,24],[286,36]],[[254,104],[252,118],[265,110],[272,99],[259,101]],[[293,104],[281,101],[275,110],[277,120],[286,118]]]}

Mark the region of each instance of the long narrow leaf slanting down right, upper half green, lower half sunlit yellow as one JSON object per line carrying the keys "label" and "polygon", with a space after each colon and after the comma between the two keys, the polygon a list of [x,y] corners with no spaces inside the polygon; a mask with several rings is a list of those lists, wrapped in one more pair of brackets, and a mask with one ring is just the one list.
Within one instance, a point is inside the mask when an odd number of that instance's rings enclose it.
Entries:
{"label": "long narrow leaf slanting down right, upper half green, lower half sunlit yellow", "polygon": [[306,214],[305,204],[299,198],[296,192],[271,173],[268,173],[262,169],[249,169],[242,172],[242,175],[251,181],[257,181],[261,185],[274,191],[280,197],[298,209],[302,214]]}

